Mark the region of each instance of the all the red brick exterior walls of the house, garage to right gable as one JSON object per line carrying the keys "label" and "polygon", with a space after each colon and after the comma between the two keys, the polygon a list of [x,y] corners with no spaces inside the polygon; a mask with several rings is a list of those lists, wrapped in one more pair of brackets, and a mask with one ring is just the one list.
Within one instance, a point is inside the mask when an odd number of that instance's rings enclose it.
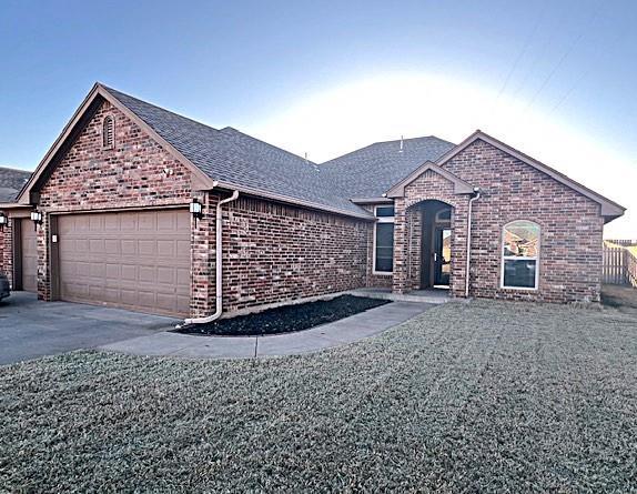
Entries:
{"label": "all the red brick exterior walls of the house, garage to right gable", "polygon": [[[115,119],[115,145],[102,149],[102,122]],[[445,168],[479,186],[472,222],[472,296],[547,302],[598,301],[603,218],[599,205],[484,141]],[[165,170],[170,170],[166,173]],[[38,294],[51,300],[51,214],[203,204],[191,223],[191,314],[215,310],[215,209],[219,194],[192,190],[191,171],[117,108],[104,102],[40,189]],[[426,171],[395,200],[394,272],[373,273],[374,223],[240,196],[224,205],[224,310],[240,311],[356,289],[419,288],[422,212],[437,200],[452,205],[451,293],[464,296],[468,194]],[[370,205],[368,210],[373,210]],[[499,288],[502,232],[513,220],[542,228],[539,289]],[[0,270],[11,274],[11,226],[0,232]]]}

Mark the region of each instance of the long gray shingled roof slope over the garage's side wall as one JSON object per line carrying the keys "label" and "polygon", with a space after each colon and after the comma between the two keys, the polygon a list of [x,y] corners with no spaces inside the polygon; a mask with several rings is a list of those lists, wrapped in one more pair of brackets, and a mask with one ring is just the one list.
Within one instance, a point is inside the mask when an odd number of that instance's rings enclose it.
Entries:
{"label": "long gray shingled roof slope over the garage's side wall", "polygon": [[213,180],[367,215],[311,161],[236,129],[214,129],[111,88],[104,89]]}

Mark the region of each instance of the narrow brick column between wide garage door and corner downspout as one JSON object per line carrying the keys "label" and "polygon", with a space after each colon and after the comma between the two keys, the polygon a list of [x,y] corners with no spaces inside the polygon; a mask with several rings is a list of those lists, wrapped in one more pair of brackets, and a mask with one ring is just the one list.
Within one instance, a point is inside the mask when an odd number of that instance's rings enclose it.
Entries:
{"label": "narrow brick column between wide garage door and corner downspout", "polygon": [[191,218],[190,312],[201,317],[214,312],[215,214],[218,198],[208,192],[193,194],[202,203],[203,218]]}

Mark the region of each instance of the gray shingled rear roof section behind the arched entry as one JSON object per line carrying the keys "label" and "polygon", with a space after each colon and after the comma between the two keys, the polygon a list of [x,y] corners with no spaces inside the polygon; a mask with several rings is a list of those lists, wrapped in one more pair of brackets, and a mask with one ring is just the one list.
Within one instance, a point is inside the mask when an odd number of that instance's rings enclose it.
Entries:
{"label": "gray shingled rear roof section behind the arched entry", "polygon": [[455,144],[429,135],[376,142],[321,164],[351,199],[380,198],[427,161],[436,161]]}

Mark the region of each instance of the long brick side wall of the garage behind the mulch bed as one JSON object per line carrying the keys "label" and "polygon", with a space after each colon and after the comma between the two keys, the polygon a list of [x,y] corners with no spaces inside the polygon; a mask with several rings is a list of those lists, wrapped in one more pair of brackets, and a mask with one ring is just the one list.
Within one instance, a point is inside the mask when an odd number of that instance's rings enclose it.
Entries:
{"label": "long brick side wall of the garage behind the mulch bed", "polygon": [[224,209],[224,310],[365,286],[367,222],[245,196]]}

